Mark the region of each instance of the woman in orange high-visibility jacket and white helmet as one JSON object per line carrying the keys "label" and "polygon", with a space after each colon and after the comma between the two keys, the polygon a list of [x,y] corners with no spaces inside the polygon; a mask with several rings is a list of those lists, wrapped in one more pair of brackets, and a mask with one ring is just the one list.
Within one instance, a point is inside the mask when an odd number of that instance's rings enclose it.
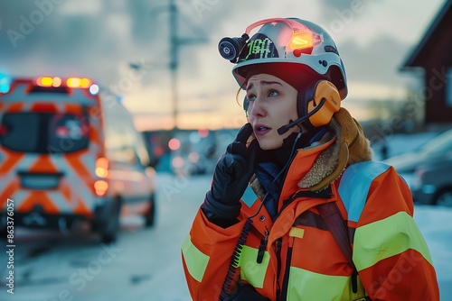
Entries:
{"label": "woman in orange high-visibility jacket and white helmet", "polygon": [[250,123],[184,242],[193,300],[438,300],[409,187],[340,107],[344,65],[328,33],[268,19],[219,49],[237,63]]}

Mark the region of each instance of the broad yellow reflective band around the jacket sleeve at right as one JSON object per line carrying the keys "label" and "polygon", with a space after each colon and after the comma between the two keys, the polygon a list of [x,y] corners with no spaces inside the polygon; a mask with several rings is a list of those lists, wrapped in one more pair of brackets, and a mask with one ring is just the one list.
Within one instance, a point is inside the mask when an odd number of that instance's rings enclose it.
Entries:
{"label": "broad yellow reflective band around the jacket sleeve at right", "polygon": [[358,270],[409,249],[419,251],[433,265],[418,226],[406,212],[356,228],[354,233],[353,261]]}

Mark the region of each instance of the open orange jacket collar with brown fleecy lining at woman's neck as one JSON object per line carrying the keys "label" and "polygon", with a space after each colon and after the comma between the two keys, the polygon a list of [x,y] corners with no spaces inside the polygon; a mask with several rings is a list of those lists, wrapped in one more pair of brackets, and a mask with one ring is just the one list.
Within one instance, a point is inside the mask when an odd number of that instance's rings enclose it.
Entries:
{"label": "open orange jacket collar with brown fleecy lining at woman's neck", "polygon": [[[342,175],[348,165],[372,160],[372,154],[361,125],[341,108],[334,114],[320,141],[297,150],[287,169],[279,201],[288,199],[300,188],[311,191],[325,189]],[[253,178],[251,182],[250,186],[261,197],[263,189],[259,181]]]}

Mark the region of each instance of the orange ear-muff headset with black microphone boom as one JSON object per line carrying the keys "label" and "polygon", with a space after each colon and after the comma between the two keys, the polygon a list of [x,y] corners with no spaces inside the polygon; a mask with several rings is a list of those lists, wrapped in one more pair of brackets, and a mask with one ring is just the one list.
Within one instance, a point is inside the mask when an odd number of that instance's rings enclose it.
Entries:
{"label": "orange ear-muff headset with black microphone boom", "polygon": [[[250,101],[245,96],[243,110],[245,110],[247,117],[249,106]],[[301,117],[278,128],[278,133],[282,135],[297,124],[303,124],[308,129],[326,125],[330,123],[333,114],[340,108],[341,96],[334,84],[325,79],[318,80],[298,91],[297,114]]]}

